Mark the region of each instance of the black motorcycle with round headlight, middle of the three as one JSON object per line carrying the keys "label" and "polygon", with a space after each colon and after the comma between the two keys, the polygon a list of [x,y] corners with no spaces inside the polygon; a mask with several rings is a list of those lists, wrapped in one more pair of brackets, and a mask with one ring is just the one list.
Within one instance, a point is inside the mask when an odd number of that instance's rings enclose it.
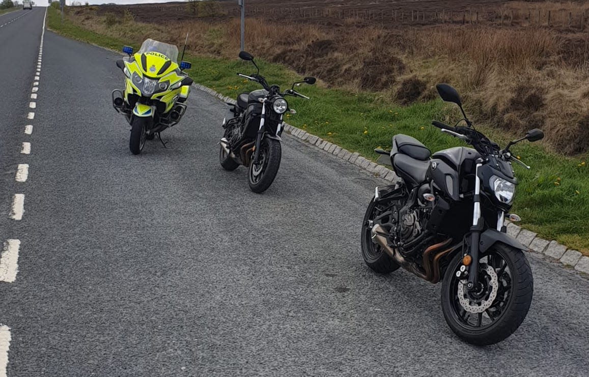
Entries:
{"label": "black motorcycle with round headlight, middle of the three", "polygon": [[[237,105],[229,104],[233,117],[223,120],[225,133],[219,142],[219,161],[225,170],[235,170],[240,165],[248,167],[250,189],[254,193],[263,193],[274,181],[282,158],[282,118],[289,110],[284,97],[292,95],[308,100],[309,97],[294,90],[294,85],[313,85],[316,80],[305,77],[303,81],[295,82],[292,88],[280,92],[278,85],[269,85],[260,75],[260,68],[251,54],[241,51],[239,57],[251,61],[257,73],[237,75],[259,83],[263,89],[242,93],[237,97]],[[294,113],[294,110],[290,111]]]}

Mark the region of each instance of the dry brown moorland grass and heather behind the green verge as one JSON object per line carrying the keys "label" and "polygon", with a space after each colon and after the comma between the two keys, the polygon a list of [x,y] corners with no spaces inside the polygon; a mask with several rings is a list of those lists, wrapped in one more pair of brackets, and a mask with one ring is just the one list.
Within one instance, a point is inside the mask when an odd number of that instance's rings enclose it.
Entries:
{"label": "dry brown moorland grass and heather behind the green verge", "polygon": [[[524,15],[526,9],[530,14],[534,9],[589,9],[584,2],[504,6]],[[135,42],[151,37],[180,45],[190,32],[193,52],[234,58],[239,51],[235,18],[164,27],[139,24],[128,14],[126,21],[112,24],[92,9],[74,13],[87,28]],[[512,131],[541,127],[556,150],[589,151],[589,32],[521,25],[391,29],[359,27],[354,20],[327,27],[251,18],[246,44],[255,55],[316,75],[325,85],[378,91],[402,104],[434,98],[434,84],[450,82],[468,97],[469,111],[478,121]]]}

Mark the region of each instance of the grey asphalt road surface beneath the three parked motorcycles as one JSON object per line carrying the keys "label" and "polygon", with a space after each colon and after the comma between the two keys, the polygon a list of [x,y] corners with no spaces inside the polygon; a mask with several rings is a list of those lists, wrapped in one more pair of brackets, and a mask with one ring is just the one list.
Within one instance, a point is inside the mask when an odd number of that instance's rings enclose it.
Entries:
{"label": "grey asphalt road surface beneath the three parked motorcycles", "polygon": [[45,32],[28,120],[43,11],[0,29],[0,236],[21,241],[15,282],[0,282],[8,376],[587,376],[587,280],[530,256],[521,328],[467,345],[441,285],[363,264],[381,181],[287,137],[275,183],[253,194],[243,168],[219,166],[226,109],[203,92],[164,133],[171,148],[133,156],[111,107],[118,55]]}

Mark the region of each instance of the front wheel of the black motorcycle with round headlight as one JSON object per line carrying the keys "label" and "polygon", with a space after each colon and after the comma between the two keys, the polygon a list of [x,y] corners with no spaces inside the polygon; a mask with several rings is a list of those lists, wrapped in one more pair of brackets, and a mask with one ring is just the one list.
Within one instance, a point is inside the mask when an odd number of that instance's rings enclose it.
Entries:
{"label": "front wheel of the black motorcycle with round headlight", "polygon": [[250,190],[260,194],[270,187],[278,173],[281,158],[282,147],[280,146],[280,141],[269,137],[264,138],[262,143],[260,143],[258,163],[256,164],[252,161],[247,174]]}

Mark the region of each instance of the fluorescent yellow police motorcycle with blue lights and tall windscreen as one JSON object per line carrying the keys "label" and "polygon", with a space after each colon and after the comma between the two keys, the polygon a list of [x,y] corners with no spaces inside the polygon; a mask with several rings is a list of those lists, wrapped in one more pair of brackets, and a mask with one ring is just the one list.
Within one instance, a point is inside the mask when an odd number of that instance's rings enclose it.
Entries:
{"label": "fluorescent yellow police motorcycle with blue lights and tall windscreen", "polygon": [[112,91],[112,106],[131,125],[129,149],[140,154],[145,140],[155,136],[165,147],[161,131],[178,124],[186,113],[184,102],[193,80],[183,71],[191,64],[181,60],[178,65],[178,48],[154,39],[146,39],[136,54],[129,46],[123,52],[129,57],[118,59],[117,67],[125,74],[125,90]]}

